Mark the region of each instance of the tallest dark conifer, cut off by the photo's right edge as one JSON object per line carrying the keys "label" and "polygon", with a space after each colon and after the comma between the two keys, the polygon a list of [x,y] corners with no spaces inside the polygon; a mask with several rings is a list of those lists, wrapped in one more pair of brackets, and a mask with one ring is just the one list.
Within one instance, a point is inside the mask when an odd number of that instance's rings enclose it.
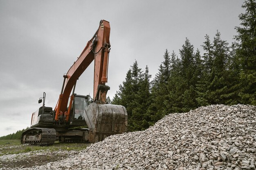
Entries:
{"label": "tallest dark conifer, cut off by the photo's right edge", "polygon": [[236,61],[240,66],[238,96],[241,103],[256,105],[256,1],[246,0],[242,7],[246,11],[238,16],[241,27],[236,27],[235,36]]}

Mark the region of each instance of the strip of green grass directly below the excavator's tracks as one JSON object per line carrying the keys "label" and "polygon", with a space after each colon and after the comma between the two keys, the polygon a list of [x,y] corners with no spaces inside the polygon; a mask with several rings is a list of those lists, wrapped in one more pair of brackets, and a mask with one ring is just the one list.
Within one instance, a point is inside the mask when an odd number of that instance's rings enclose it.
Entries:
{"label": "strip of green grass directly below the excavator's tracks", "polygon": [[59,143],[55,142],[55,144],[51,146],[26,146],[20,144],[20,140],[0,140],[0,156],[9,155],[9,154],[18,154],[18,153],[27,153],[35,150],[50,150],[50,151],[58,151],[58,150],[83,150],[89,144],[84,143]]}

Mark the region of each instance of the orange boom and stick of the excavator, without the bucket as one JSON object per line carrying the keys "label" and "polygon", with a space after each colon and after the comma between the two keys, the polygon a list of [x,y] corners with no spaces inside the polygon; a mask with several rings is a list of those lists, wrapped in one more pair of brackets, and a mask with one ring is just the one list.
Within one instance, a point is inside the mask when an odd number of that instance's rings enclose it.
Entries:
{"label": "orange boom and stick of the excavator, without the bucket", "polygon": [[[67,110],[67,102],[72,91],[75,87],[76,81],[85,71],[85,69],[94,60],[94,88],[93,99],[94,102],[105,103],[106,93],[109,89],[105,85],[108,82],[108,54],[110,50],[110,24],[105,20],[101,20],[100,25],[92,39],[88,41],[83,52],[78,57],[76,62],[65,74],[61,94],[59,95],[58,103],[55,107],[55,120],[64,114]],[[67,113],[69,115],[69,113]],[[68,117],[66,117],[68,118]]]}

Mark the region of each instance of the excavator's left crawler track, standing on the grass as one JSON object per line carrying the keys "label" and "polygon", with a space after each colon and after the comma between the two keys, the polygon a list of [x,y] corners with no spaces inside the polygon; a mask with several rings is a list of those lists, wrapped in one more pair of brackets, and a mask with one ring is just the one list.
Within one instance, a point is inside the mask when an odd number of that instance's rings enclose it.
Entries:
{"label": "excavator's left crawler track, standing on the grass", "polygon": [[56,141],[56,131],[50,128],[31,128],[24,131],[21,136],[21,144],[49,146]]}

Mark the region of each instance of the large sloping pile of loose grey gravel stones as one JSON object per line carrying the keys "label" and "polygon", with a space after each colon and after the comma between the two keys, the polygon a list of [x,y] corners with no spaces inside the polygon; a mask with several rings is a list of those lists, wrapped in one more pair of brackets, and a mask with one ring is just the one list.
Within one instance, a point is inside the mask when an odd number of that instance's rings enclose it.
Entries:
{"label": "large sloping pile of loose grey gravel stones", "polygon": [[211,105],[165,116],[145,131],[112,135],[78,155],[33,169],[256,168],[256,107]]}

